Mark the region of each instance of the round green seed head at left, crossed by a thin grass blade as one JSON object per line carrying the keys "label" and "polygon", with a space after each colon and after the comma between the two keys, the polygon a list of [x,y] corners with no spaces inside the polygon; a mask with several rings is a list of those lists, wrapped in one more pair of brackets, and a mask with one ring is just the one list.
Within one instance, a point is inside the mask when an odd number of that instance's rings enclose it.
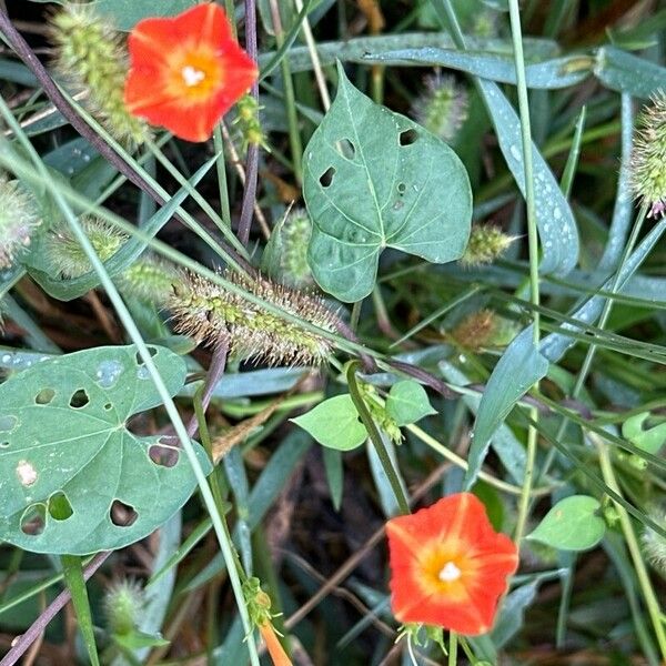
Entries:
{"label": "round green seed head at left, crossed by a thin grass blade", "polygon": [[[97,218],[82,218],[80,224],[102,261],[111,259],[128,241],[127,234]],[[78,278],[92,270],[85,252],[68,224],[51,228],[47,253],[53,271],[62,278]]]}

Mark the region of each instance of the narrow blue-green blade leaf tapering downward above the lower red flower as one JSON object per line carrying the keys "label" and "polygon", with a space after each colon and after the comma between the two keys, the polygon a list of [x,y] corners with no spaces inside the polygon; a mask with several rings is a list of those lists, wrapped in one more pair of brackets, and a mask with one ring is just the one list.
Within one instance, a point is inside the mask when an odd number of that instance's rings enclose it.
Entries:
{"label": "narrow blue-green blade leaf tapering downward above the lower red flower", "polygon": [[497,428],[529,387],[547,372],[548,361],[534,346],[533,329],[528,326],[506,347],[486,384],[476,413],[465,488],[476,481]]}

